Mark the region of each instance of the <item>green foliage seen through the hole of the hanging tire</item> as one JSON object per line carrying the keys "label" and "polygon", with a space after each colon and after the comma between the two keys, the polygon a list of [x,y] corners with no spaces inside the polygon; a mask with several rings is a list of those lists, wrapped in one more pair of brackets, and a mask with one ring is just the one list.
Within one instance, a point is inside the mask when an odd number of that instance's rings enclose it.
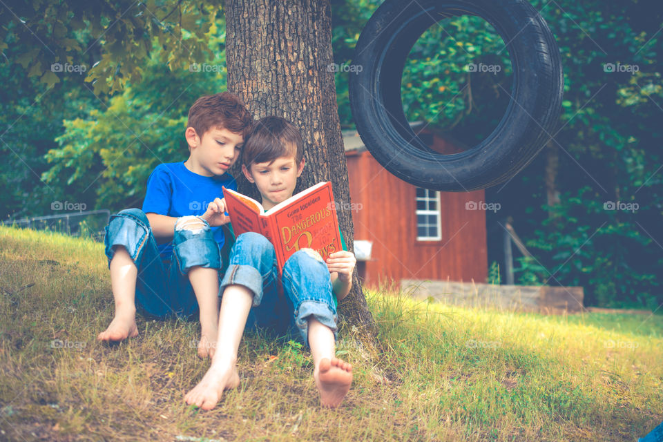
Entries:
{"label": "green foliage seen through the hole of the hanging tire", "polygon": [[[487,21],[467,15],[441,20],[419,37],[405,63],[405,115],[450,131],[472,113],[473,104],[492,104],[490,95],[503,95],[511,73],[506,46]],[[473,97],[473,83],[481,84],[479,97]]]}

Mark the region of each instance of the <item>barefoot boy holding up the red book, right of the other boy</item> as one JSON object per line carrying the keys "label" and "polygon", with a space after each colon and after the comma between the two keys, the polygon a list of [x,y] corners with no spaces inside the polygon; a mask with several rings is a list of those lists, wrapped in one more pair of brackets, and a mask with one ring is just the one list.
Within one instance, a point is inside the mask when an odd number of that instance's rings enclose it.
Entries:
{"label": "barefoot boy holding up the red book, right of the other boy", "polygon": [[[241,158],[244,175],[256,184],[262,206],[269,210],[295,189],[305,162],[302,137],[285,119],[260,119]],[[211,410],[224,390],[239,385],[236,361],[242,333],[257,325],[279,334],[296,329],[311,349],[320,403],[338,406],[352,383],[351,365],[334,357],[336,299],[349,293],[356,263],[345,249],[330,253],[326,262],[313,249],[296,251],[283,266],[280,282],[285,298],[280,298],[274,247],[258,233],[239,235],[221,283],[216,352],[200,383],[186,394],[186,403]]]}

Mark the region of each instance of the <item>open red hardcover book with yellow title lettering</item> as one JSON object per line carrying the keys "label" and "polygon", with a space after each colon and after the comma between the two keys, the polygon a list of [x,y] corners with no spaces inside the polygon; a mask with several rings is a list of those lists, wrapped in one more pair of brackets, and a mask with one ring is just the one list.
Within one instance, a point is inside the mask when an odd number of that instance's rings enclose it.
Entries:
{"label": "open red hardcover book with yellow title lettering", "polygon": [[236,236],[256,232],[276,250],[279,272],[290,256],[308,247],[327,260],[342,250],[331,182],[320,182],[292,195],[265,212],[262,204],[231,189],[223,189],[226,211]]}

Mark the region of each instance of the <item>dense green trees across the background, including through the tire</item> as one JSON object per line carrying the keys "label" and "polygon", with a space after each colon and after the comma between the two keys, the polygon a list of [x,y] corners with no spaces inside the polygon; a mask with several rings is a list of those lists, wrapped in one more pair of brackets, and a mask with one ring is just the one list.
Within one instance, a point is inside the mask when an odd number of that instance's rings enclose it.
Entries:
{"label": "dense green trees across the background, including through the tire", "polygon": [[[352,64],[354,43],[379,3],[332,2],[337,64]],[[487,213],[489,260],[501,261],[502,226],[512,216],[535,257],[520,258],[519,282],[582,285],[587,305],[657,309],[663,7],[656,0],[531,3],[557,37],[564,107],[537,160],[486,192],[501,204]],[[55,201],[140,206],[155,164],[186,157],[182,131],[193,99],[224,89],[224,29],[215,2],[3,6],[0,217],[52,214]],[[65,69],[52,70],[54,63]],[[502,69],[470,73],[471,63]],[[348,75],[336,73],[336,85],[341,121],[352,126]],[[412,50],[405,111],[472,146],[497,126],[510,79],[508,46],[492,26],[446,19]],[[637,209],[606,209],[609,202]]]}

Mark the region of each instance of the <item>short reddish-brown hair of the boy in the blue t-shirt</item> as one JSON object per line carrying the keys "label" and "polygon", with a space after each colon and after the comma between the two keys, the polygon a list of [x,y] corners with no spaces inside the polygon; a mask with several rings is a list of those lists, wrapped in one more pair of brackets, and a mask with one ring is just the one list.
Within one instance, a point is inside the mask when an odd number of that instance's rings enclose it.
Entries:
{"label": "short reddish-brown hair of the boy in the blue t-shirt", "polygon": [[237,95],[229,92],[204,95],[195,100],[189,109],[187,127],[193,127],[198,137],[211,128],[224,128],[241,133],[246,139],[251,131],[253,118]]}

